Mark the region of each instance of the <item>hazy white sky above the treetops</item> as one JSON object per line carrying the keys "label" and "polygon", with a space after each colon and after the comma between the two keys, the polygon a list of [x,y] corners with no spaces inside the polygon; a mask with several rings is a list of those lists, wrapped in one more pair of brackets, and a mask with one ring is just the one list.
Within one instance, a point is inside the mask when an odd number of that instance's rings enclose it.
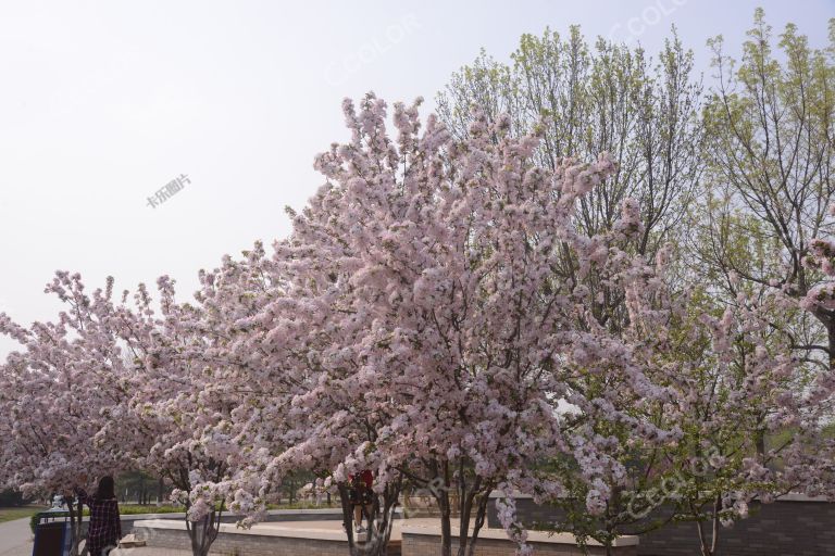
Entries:
{"label": "hazy white sky above the treetops", "polygon": [[[51,318],[43,285],[153,283],[182,295],[197,270],[289,230],[322,178],[315,153],[346,139],[344,97],[428,101],[484,47],[579,24],[650,52],[680,29],[707,64],[737,52],[756,5],[823,46],[834,0],[0,2],[0,312]],[[153,208],[147,198],[180,174]],[[0,355],[13,344],[0,339]]]}

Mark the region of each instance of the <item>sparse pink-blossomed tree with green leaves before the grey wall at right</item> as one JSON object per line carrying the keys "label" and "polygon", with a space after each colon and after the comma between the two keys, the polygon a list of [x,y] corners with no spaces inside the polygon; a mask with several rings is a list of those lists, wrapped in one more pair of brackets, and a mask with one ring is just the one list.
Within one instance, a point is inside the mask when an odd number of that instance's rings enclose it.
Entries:
{"label": "sparse pink-blossomed tree with green leaves before the grey wall at right", "polygon": [[668,343],[652,354],[664,370],[653,379],[676,392],[663,418],[682,435],[651,452],[651,469],[638,469],[660,480],[649,493],[630,492],[627,509],[694,521],[703,556],[721,553],[722,526],[748,517],[753,500],[769,503],[801,485],[785,464],[817,432],[805,422],[814,402],[803,388],[807,369],[769,325],[781,305],[740,295],[718,312],[715,300],[684,294],[666,331],[652,329]]}

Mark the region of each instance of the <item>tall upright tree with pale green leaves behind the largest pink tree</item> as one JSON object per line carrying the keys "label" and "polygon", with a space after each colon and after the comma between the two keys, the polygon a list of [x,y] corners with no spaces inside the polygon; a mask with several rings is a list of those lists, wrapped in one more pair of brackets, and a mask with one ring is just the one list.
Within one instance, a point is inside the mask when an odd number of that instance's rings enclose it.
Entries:
{"label": "tall upright tree with pale green leaves behind the largest pink tree", "polygon": [[438,96],[453,134],[468,136],[477,106],[491,121],[509,114],[513,134],[539,129],[546,167],[609,152],[618,170],[583,199],[578,226],[589,236],[611,230],[633,198],[641,206],[638,252],[652,255],[683,233],[701,167],[701,85],[675,33],[655,65],[640,48],[602,38],[590,47],[576,26],[566,38],[548,29],[524,35],[511,59],[503,64],[482,51],[453,74]]}

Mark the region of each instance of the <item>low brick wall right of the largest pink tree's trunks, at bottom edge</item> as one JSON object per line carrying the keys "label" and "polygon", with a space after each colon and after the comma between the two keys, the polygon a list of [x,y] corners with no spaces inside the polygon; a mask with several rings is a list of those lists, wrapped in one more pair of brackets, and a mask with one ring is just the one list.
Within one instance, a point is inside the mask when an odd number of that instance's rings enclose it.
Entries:
{"label": "low brick wall right of the largest pink tree's trunks, at bottom edge", "polygon": [[[606,549],[600,546],[589,546],[587,552],[571,544],[529,543],[536,556],[600,556]],[[515,544],[510,541],[479,539],[475,545],[476,556],[513,556]],[[458,551],[458,542],[452,541],[452,554]],[[315,553],[312,553],[315,554]],[[425,534],[403,533],[402,556],[438,556],[440,554],[440,538]],[[637,556],[636,546],[623,546],[612,549],[615,556]]]}

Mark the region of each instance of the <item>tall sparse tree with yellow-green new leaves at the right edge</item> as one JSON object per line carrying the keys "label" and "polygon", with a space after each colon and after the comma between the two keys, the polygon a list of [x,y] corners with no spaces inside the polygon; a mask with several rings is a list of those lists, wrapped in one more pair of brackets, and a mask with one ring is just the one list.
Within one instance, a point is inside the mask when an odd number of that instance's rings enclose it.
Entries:
{"label": "tall sparse tree with yellow-green new leaves at the right edge", "polygon": [[[813,240],[833,231],[835,18],[825,49],[812,49],[794,24],[775,45],[762,10],[748,37],[738,64],[721,36],[709,41],[718,81],[703,112],[709,194],[691,251],[731,302],[773,288],[800,301],[822,280],[803,263]],[[773,326],[807,362],[833,368],[835,311],[810,314]]]}

